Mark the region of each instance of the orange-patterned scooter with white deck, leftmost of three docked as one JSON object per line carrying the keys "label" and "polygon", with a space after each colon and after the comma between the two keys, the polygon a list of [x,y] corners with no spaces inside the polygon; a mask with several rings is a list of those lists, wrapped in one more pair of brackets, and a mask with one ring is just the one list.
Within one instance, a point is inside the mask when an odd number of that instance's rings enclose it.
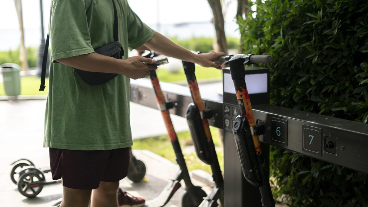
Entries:
{"label": "orange-patterned scooter with white deck, leftmost of three docked", "polygon": [[[149,52],[143,54],[142,56],[153,58],[159,56],[159,54],[155,52]],[[181,151],[180,143],[170,118],[169,109],[174,107],[174,103],[166,102],[164,94],[160,87],[156,71],[150,70],[149,73],[149,78],[151,79],[153,90],[155,91],[157,105],[165,122],[167,134],[173,146],[176,161],[180,167],[180,170],[177,173],[175,179],[165,187],[163,192],[156,199],[146,201],[146,203],[148,206],[165,206],[174,195],[174,193],[179,189],[179,187],[181,187],[180,180],[184,180],[187,192],[185,192],[183,196],[181,206],[198,207],[199,204],[202,202],[203,197],[206,197],[207,194],[204,192],[204,190],[202,190],[200,186],[194,186],[191,182],[188,168],[185,164],[183,152]]]}

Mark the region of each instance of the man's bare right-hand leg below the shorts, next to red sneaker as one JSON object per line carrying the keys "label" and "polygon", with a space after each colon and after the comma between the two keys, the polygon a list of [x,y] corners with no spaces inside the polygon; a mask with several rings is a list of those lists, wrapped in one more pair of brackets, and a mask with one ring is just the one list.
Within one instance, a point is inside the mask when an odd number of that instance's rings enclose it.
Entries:
{"label": "man's bare right-hand leg below the shorts, next to red sneaker", "polygon": [[101,181],[97,189],[92,190],[91,207],[117,207],[117,189],[119,181]]}

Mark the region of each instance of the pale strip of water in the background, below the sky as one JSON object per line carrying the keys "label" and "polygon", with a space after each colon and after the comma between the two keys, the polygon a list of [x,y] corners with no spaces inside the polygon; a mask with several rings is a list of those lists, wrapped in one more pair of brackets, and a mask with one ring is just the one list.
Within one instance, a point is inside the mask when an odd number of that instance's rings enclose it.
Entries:
{"label": "pale strip of water in the background, below the sky", "polygon": [[[149,25],[152,29],[157,29],[156,25]],[[215,28],[210,22],[183,24],[181,26],[165,24],[160,26],[161,34],[178,39],[188,39],[191,37],[215,37]],[[229,37],[239,37],[238,25],[236,22],[225,23],[225,32]],[[38,46],[40,44],[40,29],[33,28],[24,31],[26,46]],[[46,39],[47,30],[45,31]],[[17,49],[20,45],[19,29],[0,29],[0,51]]]}

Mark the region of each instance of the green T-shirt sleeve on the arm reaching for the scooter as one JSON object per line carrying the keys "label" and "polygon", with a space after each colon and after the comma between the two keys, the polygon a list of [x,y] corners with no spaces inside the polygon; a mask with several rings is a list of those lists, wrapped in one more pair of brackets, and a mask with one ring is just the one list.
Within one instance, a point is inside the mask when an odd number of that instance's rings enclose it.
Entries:
{"label": "green T-shirt sleeve on the arm reaching for the scooter", "polygon": [[130,6],[127,4],[127,26],[128,26],[128,42],[132,49],[142,46],[144,43],[149,41],[153,35],[155,35],[155,30],[144,24],[137,14],[132,11]]}

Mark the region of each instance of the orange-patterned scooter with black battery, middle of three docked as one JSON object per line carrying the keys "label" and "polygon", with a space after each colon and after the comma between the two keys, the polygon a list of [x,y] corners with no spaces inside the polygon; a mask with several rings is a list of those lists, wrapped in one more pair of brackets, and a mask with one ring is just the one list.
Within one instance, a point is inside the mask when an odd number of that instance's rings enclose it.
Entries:
{"label": "orange-patterned scooter with black battery, middle of three docked", "polygon": [[216,207],[218,206],[218,199],[222,206],[224,206],[224,179],[207,120],[213,116],[212,110],[205,109],[201,94],[199,93],[197,78],[195,77],[194,63],[183,61],[183,67],[193,101],[187,108],[186,118],[195,152],[202,162],[211,166],[212,177],[215,182],[215,187],[210,195],[204,198],[200,207]]}

